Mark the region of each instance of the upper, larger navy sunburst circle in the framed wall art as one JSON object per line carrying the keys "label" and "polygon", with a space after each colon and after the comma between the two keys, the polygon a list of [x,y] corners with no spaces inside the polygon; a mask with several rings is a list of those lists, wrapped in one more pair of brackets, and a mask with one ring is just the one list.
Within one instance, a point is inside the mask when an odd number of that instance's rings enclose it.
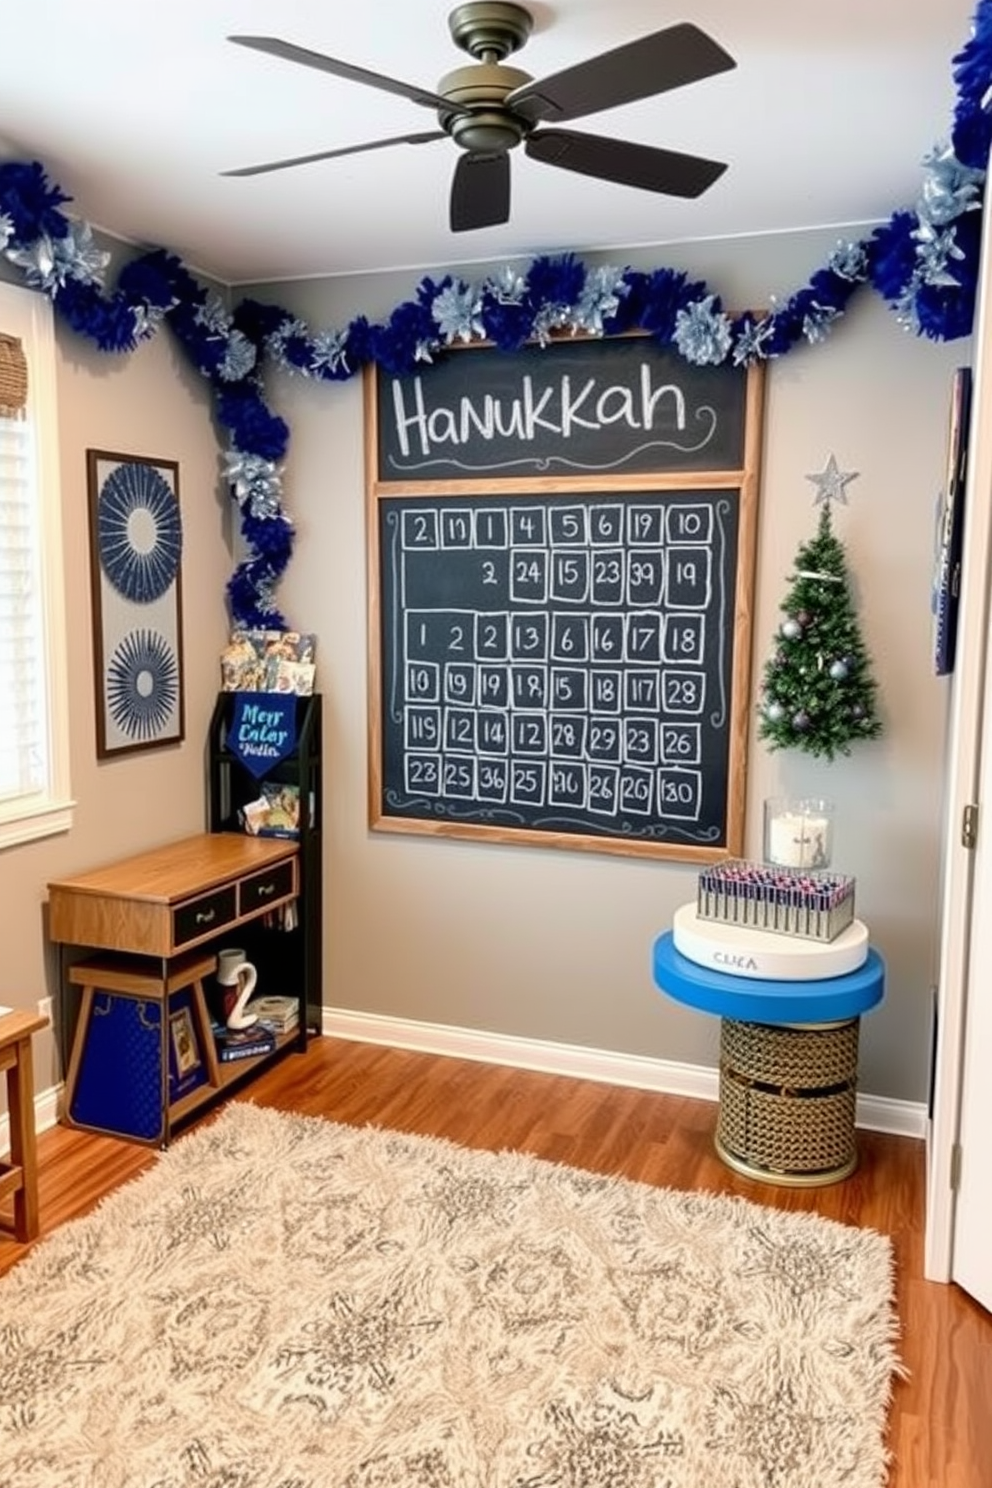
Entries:
{"label": "upper, larger navy sunburst circle in the framed wall art", "polygon": [[100,562],[117,594],[134,604],[161,598],[183,554],[178,501],[147,464],[120,464],[107,476],[97,506]]}

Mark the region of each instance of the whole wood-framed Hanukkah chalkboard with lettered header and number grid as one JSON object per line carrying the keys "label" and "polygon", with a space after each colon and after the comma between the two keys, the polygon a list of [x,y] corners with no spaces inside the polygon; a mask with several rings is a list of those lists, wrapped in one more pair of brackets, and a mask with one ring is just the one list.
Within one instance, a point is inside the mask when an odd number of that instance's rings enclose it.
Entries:
{"label": "whole wood-framed Hanukkah chalkboard with lettered header and number grid", "polygon": [[[419,382],[372,373],[366,385],[370,824],[700,862],[739,854],[754,376],[680,363],[686,427],[708,411],[700,466],[671,429],[645,437],[659,432],[644,429],[647,403],[677,400],[659,391],[675,373],[657,371],[644,338],[526,353],[458,353]],[[403,408],[424,409],[430,472],[394,464],[396,424],[384,418],[400,382],[405,397],[413,387]],[[452,426],[437,409],[470,394],[492,409],[497,385],[522,388],[516,406],[529,412],[494,415],[485,437],[473,424],[457,473],[449,464],[439,478],[431,442]],[[562,385],[571,403],[552,417],[544,393]],[[635,405],[638,388],[647,403]],[[552,432],[535,429],[538,417],[561,423],[562,406],[565,421],[589,412],[602,426],[582,442],[570,429],[568,473]]]}

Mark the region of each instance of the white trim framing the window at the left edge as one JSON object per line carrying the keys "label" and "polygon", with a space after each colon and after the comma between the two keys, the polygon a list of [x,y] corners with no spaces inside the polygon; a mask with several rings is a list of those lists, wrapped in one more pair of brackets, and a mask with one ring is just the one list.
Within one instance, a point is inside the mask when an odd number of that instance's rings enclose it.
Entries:
{"label": "white trim framing the window at the left edge", "polygon": [[68,832],[73,806],[68,775],[68,656],[59,491],[58,381],[55,324],[37,290],[0,283],[0,326],[19,336],[28,356],[31,417],[42,503],[42,612],[45,616],[49,778],[46,789],[0,804],[0,850]]}

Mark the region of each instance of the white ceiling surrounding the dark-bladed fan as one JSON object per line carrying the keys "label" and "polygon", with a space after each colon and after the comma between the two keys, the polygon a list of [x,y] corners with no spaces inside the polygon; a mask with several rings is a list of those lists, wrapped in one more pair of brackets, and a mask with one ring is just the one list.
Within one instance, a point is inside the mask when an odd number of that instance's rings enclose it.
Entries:
{"label": "white ceiling surrounding the dark-bladed fan", "polygon": [[229,283],[431,269],[809,226],[912,207],[947,134],[971,0],[558,0],[510,65],[541,77],[678,21],[736,68],[579,129],[729,162],[698,201],[513,153],[510,222],[448,228],[458,150],[394,146],[272,176],[223,170],[436,126],[405,98],[248,52],[265,34],[436,89],[467,64],[451,0],[18,0],[0,34],[0,158],[40,159],[70,211]]}

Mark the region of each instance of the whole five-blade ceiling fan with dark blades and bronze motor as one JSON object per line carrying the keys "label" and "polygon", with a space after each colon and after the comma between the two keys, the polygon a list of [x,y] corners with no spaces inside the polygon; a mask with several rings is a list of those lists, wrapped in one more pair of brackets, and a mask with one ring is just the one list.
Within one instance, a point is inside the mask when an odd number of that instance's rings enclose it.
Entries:
{"label": "whole five-blade ceiling fan with dark blades and bronze motor", "polygon": [[[452,138],[464,153],[451,186],[449,222],[452,232],[466,232],[509,220],[510,150],[518,144],[544,165],[666,196],[699,196],[724,173],[721,161],[558,128],[562,121],[650,98],[735,67],[733,58],[705,31],[689,22],[669,25],[535,82],[528,73],[504,65],[504,58],[524,46],[532,24],[529,10],[521,4],[497,0],[460,4],[451,12],[448,27],[455,45],[474,62],[442,77],[436,92],[274,36],[231,36],[228,40],[238,46],[409,98],[434,110],[440,128],[222,174],[260,176],[390,144]],[[546,124],[552,126],[541,128]]]}

